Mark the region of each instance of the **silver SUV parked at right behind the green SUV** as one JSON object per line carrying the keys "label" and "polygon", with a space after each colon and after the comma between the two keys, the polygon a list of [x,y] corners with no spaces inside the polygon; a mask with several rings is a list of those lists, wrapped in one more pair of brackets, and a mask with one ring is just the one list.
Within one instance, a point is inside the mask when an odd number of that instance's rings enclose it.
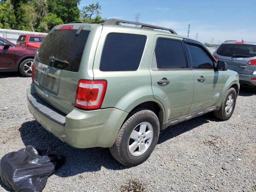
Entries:
{"label": "silver SUV parked at right behind the green SUV", "polygon": [[256,42],[226,41],[213,55],[238,72],[240,85],[256,87]]}

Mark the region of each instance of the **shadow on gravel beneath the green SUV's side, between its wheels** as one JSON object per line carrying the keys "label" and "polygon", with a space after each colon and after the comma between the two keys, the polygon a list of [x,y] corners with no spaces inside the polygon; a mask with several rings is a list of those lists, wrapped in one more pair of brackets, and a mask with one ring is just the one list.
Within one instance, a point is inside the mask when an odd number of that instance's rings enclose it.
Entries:
{"label": "shadow on gravel beneath the green SUV's side, between its wheels", "polygon": [[166,140],[169,140],[171,138],[179,136],[180,134],[190,131],[198,126],[207,124],[210,121],[211,122],[219,122],[220,120],[215,118],[212,113],[208,113],[208,114],[204,114],[200,117],[196,117],[191,120],[170,126],[160,132],[158,144],[161,144],[161,143],[165,142]]}

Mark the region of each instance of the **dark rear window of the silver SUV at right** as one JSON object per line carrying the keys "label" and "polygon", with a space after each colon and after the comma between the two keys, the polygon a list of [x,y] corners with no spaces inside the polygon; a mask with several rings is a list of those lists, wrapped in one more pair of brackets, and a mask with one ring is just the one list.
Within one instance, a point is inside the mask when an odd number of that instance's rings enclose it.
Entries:
{"label": "dark rear window of the silver SUV at right", "polygon": [[248,44],[222,44],[217,54],[226,57],[255,57],[256,45]]}

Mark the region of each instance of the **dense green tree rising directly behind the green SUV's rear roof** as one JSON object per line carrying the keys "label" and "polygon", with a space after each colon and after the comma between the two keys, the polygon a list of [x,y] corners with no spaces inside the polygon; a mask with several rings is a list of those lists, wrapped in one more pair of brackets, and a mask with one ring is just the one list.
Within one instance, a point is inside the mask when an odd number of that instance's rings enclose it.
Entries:
{"label": "dense green tree rising directly behind the green SUV's rear roof", "polygon": [[48,13],[54,13],[61,18],[64,23],[78,21],[80,10],[77,5],[81,0],[48,0]]}

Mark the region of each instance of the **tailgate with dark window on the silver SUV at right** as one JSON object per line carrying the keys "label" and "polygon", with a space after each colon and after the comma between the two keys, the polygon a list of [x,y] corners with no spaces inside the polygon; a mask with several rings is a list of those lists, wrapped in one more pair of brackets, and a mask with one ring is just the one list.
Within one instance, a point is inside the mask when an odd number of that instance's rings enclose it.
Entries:
{"label": "tailgate with dark window on the silver SUV at right", "polygon": [[242,42],[222,44],[216,53],[219,60],[228,64],[228,69],[243,75],[251,75],[254,72],[256,65],[248,65],[248,62],[256,59],[256,45]]}

